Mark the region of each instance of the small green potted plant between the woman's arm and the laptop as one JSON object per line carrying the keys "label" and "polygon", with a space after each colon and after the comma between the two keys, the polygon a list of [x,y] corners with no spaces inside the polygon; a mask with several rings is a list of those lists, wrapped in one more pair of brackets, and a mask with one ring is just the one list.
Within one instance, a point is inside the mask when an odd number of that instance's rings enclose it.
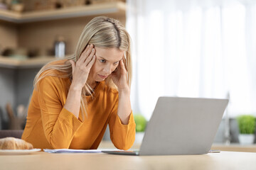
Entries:
{"label": "small green potted plant between the woman's arm and the laptop", "polygon": [[141,143],[144,137],[144,131],[146,129],[146,118],[140,113],[134,114],[134,120],[136,123],[136,136],[135,142]]}

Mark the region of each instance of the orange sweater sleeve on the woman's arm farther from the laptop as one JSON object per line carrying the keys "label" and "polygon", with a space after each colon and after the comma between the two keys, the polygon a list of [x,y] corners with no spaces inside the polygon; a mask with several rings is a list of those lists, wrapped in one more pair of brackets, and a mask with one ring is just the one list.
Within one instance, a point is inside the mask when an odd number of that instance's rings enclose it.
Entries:
{"label": "orange sweater sleeve on the woman's arm farther from the laptop", "polygon": [[53,148],[69,148],[75,131],[82,123],[73,113],[63,108],[60,97],[65,91],[55,79],[57,78],[45,77],[38,83],[43,130]]}

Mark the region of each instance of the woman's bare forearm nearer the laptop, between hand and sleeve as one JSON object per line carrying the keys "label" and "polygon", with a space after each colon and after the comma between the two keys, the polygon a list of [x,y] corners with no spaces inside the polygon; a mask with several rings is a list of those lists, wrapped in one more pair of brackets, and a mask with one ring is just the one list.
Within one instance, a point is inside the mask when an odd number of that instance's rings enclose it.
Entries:
{"label": "woman's bare forearm nearer the laptop, between hand and sleeve", "polygon": [[119,116],[122,124],[128,124],[129,116],[131,113],[132,107],[129,89],[119,91],[117,115]]}

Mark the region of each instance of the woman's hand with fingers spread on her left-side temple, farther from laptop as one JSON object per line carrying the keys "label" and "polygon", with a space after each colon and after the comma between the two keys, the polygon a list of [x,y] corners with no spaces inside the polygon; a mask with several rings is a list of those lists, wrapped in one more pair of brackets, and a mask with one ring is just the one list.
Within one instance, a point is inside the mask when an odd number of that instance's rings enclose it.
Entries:
{"label": "woman's hand with fingers spread on her left-side temple, farther from laptop", "polygon": [[85,86],[90,69],[95,62],[95,58],[95,48],[93,45],[87,45],[76,63],[73,60],[70,60],[73,74],[71,85],[73,88],[81,90]]}

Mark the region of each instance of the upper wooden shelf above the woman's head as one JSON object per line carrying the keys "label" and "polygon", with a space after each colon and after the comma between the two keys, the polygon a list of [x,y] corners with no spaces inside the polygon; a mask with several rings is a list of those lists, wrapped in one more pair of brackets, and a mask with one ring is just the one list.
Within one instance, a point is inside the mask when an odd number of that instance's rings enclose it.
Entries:
{"label": "upper wooden shelf above the woman's head", "polygon": [[95,16],[102,14],[125,14],[126,5],[122,1],[105,4],[92,4],[88,6],[75,6],[61,8],[53,11],[33,11],[16,13],[0,10],[0,20],[12,23],[29,23],[35,21],[49,21],[61,18],[75,18],[79,16]]}

